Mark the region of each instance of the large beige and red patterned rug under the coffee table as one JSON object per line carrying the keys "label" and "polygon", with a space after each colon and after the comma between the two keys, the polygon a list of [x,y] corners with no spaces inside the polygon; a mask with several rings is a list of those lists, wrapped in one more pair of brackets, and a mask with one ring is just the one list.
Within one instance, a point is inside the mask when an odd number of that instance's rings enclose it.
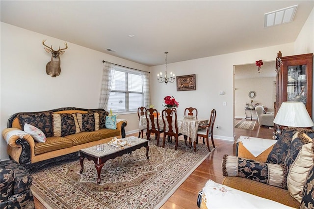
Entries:
{"label": "large beige and red patterned rug under the coffee table", "polygon": [[79,160],[50,164],[31,171],[31,190],[48,209],[158,209],[214,150],[199,143],[193,152],[181,140],[174,146],[151,140],[148,160],[144,147],[108,160],[99,185],[92,161],[84,159],[82,174]]}

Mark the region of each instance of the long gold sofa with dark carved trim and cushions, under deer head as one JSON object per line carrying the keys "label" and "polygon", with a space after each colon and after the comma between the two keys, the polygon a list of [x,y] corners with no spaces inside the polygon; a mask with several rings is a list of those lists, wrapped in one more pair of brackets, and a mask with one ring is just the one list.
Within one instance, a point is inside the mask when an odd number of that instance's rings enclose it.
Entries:
{"label": "long gold sofa with dark carved trim and cushions, under deer head", "polygon": [[115,117],[104,109],[76,107],[21,112],[9,118],[2,136],[10,158],[31,169],[78,158],[79,150],[106,143],[111,137],[124,138],[127,121]]}

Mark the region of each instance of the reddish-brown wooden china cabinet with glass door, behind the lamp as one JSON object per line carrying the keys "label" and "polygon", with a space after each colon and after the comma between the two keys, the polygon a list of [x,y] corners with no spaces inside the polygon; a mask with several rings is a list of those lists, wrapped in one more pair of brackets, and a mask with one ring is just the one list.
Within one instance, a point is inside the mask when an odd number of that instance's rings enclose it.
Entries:
{"label": "reddish-brown wooden china cabinet with glass door, behind the lamp", "polygon": [[303,102],[312,117],[313,53],[282,56],[277,53],[275,115],[286,101]]}

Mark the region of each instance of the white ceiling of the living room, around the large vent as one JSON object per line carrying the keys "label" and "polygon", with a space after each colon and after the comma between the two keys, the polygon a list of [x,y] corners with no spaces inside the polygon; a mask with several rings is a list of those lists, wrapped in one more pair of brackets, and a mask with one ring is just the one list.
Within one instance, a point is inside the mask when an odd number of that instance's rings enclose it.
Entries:
{"label": "white ceiling of the living room, around the large vent", "polygon": [[[264,28],[264,13],[295,4],[292,23]],[[294,42],[313,6],[313,0],[1,0],[0,19],[154,66],[164,64],[166,51],[172,63]]]}

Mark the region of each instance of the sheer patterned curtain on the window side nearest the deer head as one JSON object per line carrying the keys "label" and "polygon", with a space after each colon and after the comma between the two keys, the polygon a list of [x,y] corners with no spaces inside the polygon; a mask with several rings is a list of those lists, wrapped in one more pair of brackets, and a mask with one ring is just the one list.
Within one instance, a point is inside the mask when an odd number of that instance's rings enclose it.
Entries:
{"label": "sheer patterned curtain on the window side nearest the deer head", "polygon": [[106,111],[108,111],[108,100],[112,86],[112,78],[114,77],[115,67],[116,65],[110,62],[104,62],[103,65],[103,80],[99,97],[99,108],[103,108]]}

